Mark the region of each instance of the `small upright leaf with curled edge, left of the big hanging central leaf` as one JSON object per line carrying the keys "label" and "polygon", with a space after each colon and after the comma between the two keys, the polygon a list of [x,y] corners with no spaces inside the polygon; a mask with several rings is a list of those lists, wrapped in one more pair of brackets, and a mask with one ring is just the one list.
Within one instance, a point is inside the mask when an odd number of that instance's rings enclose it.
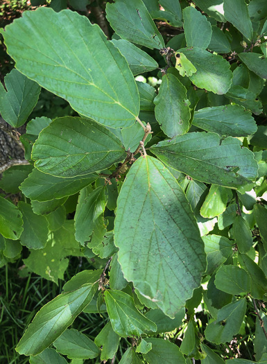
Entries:
{"label": "small upright leaf with curled edge, left of the big hanging central leaf", "polygon": [[80,191],[74,221],[76,240],[83,246],[90,240],[89,238],[98,224],[103,225],[106,203],[105,187],[92,190],[92,187],[89,186]]}

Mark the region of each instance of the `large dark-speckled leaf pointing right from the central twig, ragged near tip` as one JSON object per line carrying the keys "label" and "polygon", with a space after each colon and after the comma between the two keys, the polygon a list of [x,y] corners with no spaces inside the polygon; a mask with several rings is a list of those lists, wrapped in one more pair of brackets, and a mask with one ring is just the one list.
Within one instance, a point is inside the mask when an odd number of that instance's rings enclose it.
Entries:
{"label": "large dark-speckled leaf pointing right from the central twig, ragged near tip", "polygon": [[160,141],[150,150],[190,177],[219,186],[238,188],[257,177],[257,162],[241,141],[211,132],[189,132],[172,141]]}

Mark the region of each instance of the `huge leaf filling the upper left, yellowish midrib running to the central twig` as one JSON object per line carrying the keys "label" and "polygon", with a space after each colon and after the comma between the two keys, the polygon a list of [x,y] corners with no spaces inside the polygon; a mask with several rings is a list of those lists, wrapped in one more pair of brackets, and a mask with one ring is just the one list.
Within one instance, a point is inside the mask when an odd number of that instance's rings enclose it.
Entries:
{"label": "huge leaf filling the upper left, yellowish midrib running to the central twig", "polygon": [[134,123],[139,96],[132,72],[87,17],[41,7],[6,26],[3,37],[17,69],[79,114],[113,128]]}

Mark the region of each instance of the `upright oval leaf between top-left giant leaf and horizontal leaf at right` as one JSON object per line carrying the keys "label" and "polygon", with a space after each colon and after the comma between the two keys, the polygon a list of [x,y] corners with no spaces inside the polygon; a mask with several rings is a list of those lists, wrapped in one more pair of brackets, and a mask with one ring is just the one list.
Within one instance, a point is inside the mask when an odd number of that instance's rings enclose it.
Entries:
{"label": "upright oval leaf between top-left giant leaf and horizontal leaf at right", "polygon": [[154,103],[156,119],[168,137],[188,132],[191,116],[187,89],[173,74],[168,73],[162,77],[160,92]]}

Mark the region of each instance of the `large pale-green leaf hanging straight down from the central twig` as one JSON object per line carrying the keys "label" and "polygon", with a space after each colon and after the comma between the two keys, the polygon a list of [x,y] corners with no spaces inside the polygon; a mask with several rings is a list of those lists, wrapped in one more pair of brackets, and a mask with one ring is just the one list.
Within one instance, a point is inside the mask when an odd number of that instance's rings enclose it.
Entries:
{"label": "large pale-green leaf hanging straight down from the central twig", "polygon": [[118,198],[114,241],[124,277],[174,318],[200,285],[206,259],[184,191],[153,157],[139,158],[128,172]]}

